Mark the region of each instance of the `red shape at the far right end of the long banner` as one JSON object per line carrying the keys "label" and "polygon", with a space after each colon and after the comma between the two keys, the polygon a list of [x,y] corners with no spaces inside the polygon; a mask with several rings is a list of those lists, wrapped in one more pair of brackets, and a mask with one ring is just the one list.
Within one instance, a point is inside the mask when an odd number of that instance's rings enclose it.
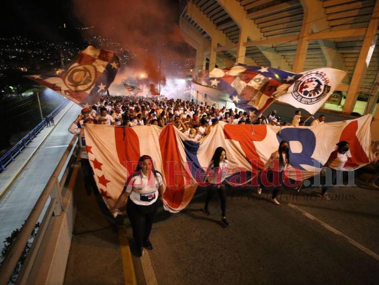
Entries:
{"label": "red shape at the far right end of the long banner", "polygon": [[366,152],[356,137],[357,130],[358,121],[353,121],[345,127],[340,137],[340,141],[349,142],[350,153],[352,155],[345,163],[345,167],[357,167],[370,162]]}

